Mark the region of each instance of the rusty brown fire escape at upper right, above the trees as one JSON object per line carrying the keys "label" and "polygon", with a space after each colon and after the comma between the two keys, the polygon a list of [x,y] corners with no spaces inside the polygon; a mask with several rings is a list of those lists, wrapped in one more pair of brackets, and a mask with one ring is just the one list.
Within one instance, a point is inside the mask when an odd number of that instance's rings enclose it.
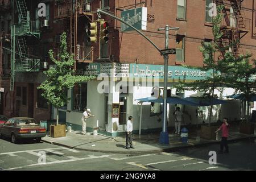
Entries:
{"label": "rusty brown fire escape at upper right, above the trees", "polygon": [[215,2],[217,5],[224,6],[222,10],[224,18],[221,23],[222,37],[218,41],[218,46],[222,48],[219,59],[224,57],[226,52],[224,47],[228,46],[234,57],[238,57],[243,53],[239,40],[250,32],[251,19],[245,18],[242,10],[243,0],[215,0]]}

